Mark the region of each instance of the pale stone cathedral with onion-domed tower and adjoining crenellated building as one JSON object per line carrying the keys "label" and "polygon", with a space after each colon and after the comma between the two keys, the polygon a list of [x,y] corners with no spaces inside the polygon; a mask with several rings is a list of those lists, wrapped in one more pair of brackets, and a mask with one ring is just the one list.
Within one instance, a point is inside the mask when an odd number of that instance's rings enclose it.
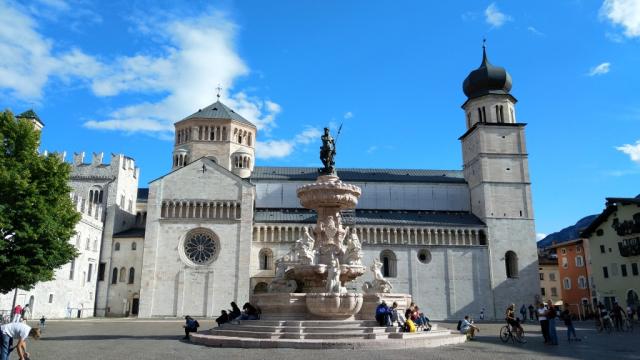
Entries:
{"label": "pale stone cathedral with onion-domed tower and adjoining crenellated building", "polygon": [[[379,260],[393,292],[432,319],[501,318],[538,297],[526,124],[511,85],[483,50],[463,83],[461,170],[337,168],[362,189],[342,217],[363,263]],[[74,154],[71,197],[83,216],[70,241],[80,255],[17,302],[38,317],[211,317],[268,291],[276,259],[315,224],[296,189],[318,170],[255,166],[258,135],[218,99],[175,123],[171,170],[148,188],[127,156]],[[0,296],[2,309],[13,296]]]}

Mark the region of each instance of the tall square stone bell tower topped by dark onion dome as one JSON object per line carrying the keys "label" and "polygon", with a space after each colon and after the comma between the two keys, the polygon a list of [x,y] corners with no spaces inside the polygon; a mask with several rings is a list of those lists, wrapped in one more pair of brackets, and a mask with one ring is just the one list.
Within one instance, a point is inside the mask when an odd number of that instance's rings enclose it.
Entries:
{"label": "tall square stone bell tower topped by dark onion dome", "polygon": [[483,46],[482,63],[464,80],[467,131],[460,137],[471,210],[488,229],[496,316],[511,303],[532,304],[538,264],[526,124],[516,121],[511,76],[494,66]]}

